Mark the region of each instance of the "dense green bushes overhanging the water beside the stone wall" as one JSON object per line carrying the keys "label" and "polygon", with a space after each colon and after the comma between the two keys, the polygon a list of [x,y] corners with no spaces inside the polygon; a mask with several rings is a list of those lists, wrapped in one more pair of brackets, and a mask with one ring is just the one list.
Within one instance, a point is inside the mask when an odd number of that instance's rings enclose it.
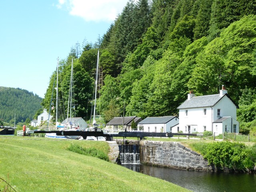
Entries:
{"label": "dense green bushes overhanging the water beside the stone wall", "polygon": [[252,172],[256,168],[256,145],[245,146],[238,142],[192,143],[194,150],[217,170]]}

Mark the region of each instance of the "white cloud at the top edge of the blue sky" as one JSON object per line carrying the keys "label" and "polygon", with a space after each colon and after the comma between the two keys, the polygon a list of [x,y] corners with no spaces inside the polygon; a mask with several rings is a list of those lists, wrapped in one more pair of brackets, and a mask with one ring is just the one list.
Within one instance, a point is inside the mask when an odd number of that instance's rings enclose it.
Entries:
{"label": "white cloud at the top edge of the blue sky", "polygon": [[114,21],[128,0],[59,0],[60,9],[86,21]]}

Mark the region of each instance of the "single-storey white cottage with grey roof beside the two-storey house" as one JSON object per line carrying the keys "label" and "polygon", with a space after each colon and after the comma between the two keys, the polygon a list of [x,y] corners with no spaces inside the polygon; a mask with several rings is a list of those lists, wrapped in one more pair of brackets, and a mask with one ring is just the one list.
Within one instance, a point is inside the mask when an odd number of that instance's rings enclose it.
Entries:
{"label": "single-storey white cottage with grey roof beside the two-storey house", "polygon": [[147,117],[138,123],[138,129],[145,132],[178,132],[177,124],[177,116]]}

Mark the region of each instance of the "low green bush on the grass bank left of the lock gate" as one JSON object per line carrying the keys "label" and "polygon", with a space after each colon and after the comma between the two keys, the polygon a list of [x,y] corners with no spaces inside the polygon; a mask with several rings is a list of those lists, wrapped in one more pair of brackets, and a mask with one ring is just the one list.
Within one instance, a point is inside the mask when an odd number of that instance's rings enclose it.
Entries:
{"label": "low green bush on the grass bank left of the lock gate", "polygon": [[76,152],[78,154],[93,156],[93,157],[97,157],[97,158],[105,160],[105,161],[109,161],[107,154],[105,154],[103,151],[98,150],[94,147],[83,148],[82,146],[79,146],[78,144],[71,144],[67,149],[72,152]]}

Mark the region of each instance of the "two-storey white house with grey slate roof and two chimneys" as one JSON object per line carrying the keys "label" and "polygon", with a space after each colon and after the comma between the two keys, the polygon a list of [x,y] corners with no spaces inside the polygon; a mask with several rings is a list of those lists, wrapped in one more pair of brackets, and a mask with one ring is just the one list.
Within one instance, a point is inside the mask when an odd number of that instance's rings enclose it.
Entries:
{"label": "two-storey white house with grey slate roof and two chimneys", "polygon": [[190,92],[188,99],[179,109],[180,130],[184,133],[211,131],[239,133],[239,122],[236,120],[238,106],[222,86],[220,94],[195,96]]}

